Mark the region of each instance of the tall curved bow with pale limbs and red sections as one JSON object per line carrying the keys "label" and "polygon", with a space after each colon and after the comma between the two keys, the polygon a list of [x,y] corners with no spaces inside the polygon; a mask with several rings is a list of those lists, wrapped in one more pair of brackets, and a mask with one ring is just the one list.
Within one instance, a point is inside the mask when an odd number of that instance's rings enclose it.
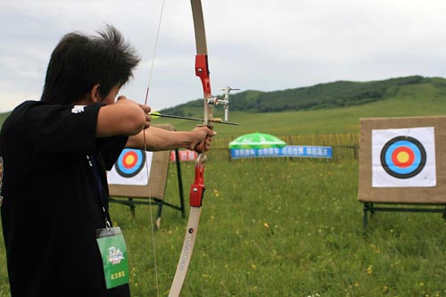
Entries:
{"label": "tall curved bow with pale limbs and red sections", "polygon": [[[203,125],[213,128],[212,108],[214,101],[211,96],[211,80],[208,64],[208,47],[206,43],[206,33],[204,29],[204,18],[202,15],[201,0],[191,0],[192,13],[194,17],[195,32],[195,75],[202,81],[204,123]],[[195,161],[194,184],[190,190],[190,213],[187,221],[185,241],[178,261],[177,271],[170,287],[169,297],[177,297],[185,282],[187,268],[189,267],[194,244],[202,212],[202,197],[204,194],[204,164],[206,154],[200,153]]]}

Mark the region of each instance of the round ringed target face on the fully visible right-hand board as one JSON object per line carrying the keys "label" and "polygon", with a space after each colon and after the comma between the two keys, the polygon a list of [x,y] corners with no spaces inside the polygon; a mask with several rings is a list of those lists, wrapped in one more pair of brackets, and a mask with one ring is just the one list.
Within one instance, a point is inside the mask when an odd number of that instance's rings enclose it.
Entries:
{"label": "round ringed target face on the fully visible right-hand board", "polygon": [[381,165],[392,177],[415,177],[425,168],[425,147],[410,136],[397,136],[384,144]]}

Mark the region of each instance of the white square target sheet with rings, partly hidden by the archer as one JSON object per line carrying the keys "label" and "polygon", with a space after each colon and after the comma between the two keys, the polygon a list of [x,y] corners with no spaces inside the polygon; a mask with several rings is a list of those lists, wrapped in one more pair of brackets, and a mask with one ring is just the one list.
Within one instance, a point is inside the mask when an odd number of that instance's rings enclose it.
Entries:
{"label": "white square target sheet with rings, partly hidden by the archer", "polygon": [[149,180],[151,163],[151,152],[124,149],[108,173],[109,184],[145,186]]}

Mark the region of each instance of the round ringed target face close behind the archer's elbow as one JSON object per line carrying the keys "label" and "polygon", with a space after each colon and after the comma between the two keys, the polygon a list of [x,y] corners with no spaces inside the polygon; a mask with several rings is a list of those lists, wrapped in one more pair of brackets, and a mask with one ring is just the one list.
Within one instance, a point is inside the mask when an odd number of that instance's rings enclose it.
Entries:
{"label": "round ringed target face close behind the archer's elbow", "polygon": [[115,163],[116,172],[121,177],[135,177],[145,166],[145,152],[124,149]]}

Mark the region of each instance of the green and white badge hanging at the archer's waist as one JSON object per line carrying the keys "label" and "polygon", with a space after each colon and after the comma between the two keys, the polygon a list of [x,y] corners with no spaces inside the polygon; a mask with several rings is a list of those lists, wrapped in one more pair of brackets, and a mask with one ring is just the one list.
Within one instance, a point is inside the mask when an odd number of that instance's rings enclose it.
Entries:
{"label": "green and white badge hanging at the archer's waist", "polygon": [[120,227],[97,229],[96,241],[103,259],[107,290],[128,284],[127,248]]}

